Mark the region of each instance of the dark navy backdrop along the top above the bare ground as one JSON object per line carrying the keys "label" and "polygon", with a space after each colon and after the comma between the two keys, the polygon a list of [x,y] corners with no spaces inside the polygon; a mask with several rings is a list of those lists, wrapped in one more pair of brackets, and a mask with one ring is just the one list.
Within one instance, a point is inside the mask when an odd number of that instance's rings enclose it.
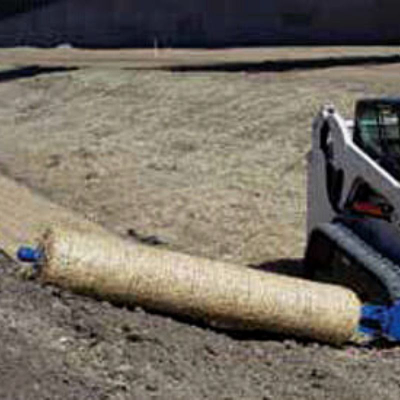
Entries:
{"label": "dark navy backdrop along the top above the bare ground", "polygon": [[396,44],[394,0],[5,0],[0,46]]}

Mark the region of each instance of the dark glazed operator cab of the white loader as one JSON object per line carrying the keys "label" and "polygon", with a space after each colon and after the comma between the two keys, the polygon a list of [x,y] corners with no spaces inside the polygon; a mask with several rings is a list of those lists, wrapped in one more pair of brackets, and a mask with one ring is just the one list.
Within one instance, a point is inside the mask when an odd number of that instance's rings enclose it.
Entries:
{"label": "dark glazed operator cab of the white loader", "polygon": [[400,98],[358,101],[354,143],[400,180]]}

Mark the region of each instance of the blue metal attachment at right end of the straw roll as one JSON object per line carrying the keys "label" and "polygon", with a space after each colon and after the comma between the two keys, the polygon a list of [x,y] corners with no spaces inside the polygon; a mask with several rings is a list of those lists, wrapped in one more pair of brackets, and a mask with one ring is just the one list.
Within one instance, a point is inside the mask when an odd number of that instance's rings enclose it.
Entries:
{"label": "blue metal attachment at right end of the straw roll", "polygon": [[391,305],[364,304],[358,330],[372,339],[400,341],[400,300]]}

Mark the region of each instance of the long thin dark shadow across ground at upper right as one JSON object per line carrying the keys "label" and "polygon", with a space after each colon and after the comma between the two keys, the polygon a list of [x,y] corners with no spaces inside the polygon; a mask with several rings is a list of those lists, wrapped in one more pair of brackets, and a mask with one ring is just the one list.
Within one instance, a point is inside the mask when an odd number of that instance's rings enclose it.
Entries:
{"label": "long thin dark shadow across ground at upper right", "polygon": [[285,72],[296,69],[319,69],[334,66],[381,65],[400,62],[400,54],[360,55],[307,59],[277,59],[261,62],[216,62],[213,64],[161,67],[172,72]]}

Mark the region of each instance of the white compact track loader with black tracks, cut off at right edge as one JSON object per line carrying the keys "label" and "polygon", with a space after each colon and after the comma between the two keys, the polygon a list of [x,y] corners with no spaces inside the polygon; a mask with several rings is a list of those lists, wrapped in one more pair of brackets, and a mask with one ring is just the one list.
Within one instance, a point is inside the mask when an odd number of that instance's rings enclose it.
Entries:
{"label": "white compact track loader with black tracks, cut off at right edge", "polygon": [[362,99],[345,120],[331,105],[308,154],[308,278],[364,302],[400,300],[400,98]]}

